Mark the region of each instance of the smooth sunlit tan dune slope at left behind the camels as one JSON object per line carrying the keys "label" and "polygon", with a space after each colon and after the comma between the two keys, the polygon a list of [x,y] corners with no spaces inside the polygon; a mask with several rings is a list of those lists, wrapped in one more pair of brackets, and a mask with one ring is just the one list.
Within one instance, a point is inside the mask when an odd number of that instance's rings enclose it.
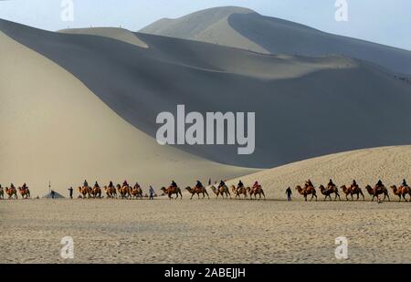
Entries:
{"label": "smooth sunlit tan dune slope at left behind the camels", "polygon": [[[122,120],[77,78],[0,32],[0,183],[28,183],[32,196],[47,183],[67,195],[85,178],[147,185],[193,184],[250,170],[208,162],[153,138]],[[41,71],[40,71],[41,70]]]}

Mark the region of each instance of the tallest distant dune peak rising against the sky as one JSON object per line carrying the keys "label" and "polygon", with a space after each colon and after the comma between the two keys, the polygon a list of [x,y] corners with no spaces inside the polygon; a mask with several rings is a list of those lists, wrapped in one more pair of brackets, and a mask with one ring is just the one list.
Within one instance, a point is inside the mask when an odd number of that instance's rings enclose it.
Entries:
{"label": "tallest distant dune peak rising against the sky", "polygon": [[[411,52],[321,32],[239,7],[216,7],[177,19],[162,19],[141,32],[198,40],[259,53],[302,56],[340,54],[411,75]],[[406,35],[404,35],[406,36]]]}

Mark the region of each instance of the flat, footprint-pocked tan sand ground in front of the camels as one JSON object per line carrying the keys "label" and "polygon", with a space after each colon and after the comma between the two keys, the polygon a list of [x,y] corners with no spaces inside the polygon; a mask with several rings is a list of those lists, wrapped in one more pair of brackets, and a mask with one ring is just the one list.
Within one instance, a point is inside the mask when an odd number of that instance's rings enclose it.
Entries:
{"label": "flat, footprint-pocked tan sand ground in front of the camels", "polygon": [[409,203],[29,200],[0,202],[0,217],[1,263],[411,262]]}

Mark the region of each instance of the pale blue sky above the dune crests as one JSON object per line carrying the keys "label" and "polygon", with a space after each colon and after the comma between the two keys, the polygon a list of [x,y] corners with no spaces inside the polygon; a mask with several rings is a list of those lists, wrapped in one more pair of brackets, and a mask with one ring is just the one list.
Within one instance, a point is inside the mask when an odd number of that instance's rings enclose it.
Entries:
{"label": "pale blue sky above the dune crests", "polygon": [[410,0],[347,0],[349,21],[336,22],[335,0],[73,0],[74,22],[62,22],[62,0],[0,0],[0,18],[47,30],[122,26],[137,31],[162,17],[237,5],[333,34],[411,50]]}

